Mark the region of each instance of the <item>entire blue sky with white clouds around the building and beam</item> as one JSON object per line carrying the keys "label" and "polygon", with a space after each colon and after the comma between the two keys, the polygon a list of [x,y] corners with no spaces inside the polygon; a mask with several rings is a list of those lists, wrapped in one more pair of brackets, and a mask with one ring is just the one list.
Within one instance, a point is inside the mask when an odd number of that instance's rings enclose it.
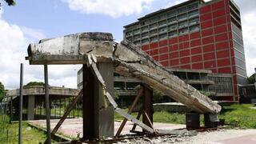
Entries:
{"label": "entire blue sky with white clouds around the building and beam", "polygon": [[[117,42],[123,27],[137,18],[173,6],[184,0],[26,0],[17,6],[2,3],[0,10],[0,82],[6,89],[19,86],[20,63],[24,63],[24,84],[43,82],[43,66],[25,61],[29,43],[78,32],[110,32]],[[247,74],[256,67],[256,1],[234,0],[242,14]],[[76,88],[81,66],[49,66],[51,86]]]}

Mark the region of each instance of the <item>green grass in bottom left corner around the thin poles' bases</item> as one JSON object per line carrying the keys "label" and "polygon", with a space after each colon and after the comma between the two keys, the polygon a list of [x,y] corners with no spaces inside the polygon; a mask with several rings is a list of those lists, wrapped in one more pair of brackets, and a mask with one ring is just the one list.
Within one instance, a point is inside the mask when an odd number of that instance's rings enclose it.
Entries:
{"label": "green grass in bottom left corner around the thin poles' bases", "polygon": [[[7,136],[8,133],[8,136]],[[22,143],[39,143],[46,140],[44,132],[22,122]],[[0,143],[18,143],[18,123],[11,123],[8,116],[0,116]]]}

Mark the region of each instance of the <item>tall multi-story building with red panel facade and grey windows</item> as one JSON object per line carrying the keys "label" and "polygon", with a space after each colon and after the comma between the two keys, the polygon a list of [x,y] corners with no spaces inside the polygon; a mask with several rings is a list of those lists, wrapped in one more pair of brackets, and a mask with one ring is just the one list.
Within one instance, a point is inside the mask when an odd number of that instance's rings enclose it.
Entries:
{"label": "tall multi-story building with red panel facade and grey windows", "polygon": [[167,68],[232,74],[233,94],[217,99],[238,101],[246,62],[240,11],[232,0],[182,2],[124,28],[124,38]]}

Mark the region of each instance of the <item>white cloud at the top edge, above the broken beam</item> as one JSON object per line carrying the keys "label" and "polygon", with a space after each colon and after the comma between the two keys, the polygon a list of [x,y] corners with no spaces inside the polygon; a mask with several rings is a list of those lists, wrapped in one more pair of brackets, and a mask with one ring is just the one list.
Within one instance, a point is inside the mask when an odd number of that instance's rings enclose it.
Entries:
{"label": "white cloud at the top edge, above the broken beam", "polygon": [[62,2],[68,3],[70,10],[119,18],[123,15],[140,14],[143,9],[148,9],[154,0],[62,0]]}

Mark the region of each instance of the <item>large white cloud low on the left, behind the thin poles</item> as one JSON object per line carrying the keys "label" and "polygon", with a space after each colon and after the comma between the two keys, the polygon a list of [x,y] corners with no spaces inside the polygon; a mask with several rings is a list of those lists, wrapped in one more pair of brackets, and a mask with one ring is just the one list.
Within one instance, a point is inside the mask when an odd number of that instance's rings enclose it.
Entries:
{"label": "large white cloud low on the left, behind the thin poles", "polygon": [[[6,89],[18,88],[20,63],[24,63],[24,84],[44,81],[43,66],[31,66],[25,61],[29,43],[38,42],[41,38],[45,38],[42,30],[10,24],[0,17],[0,82]],[[50,85],[76,88],[79,67],[81,66],[49,66]]]}

